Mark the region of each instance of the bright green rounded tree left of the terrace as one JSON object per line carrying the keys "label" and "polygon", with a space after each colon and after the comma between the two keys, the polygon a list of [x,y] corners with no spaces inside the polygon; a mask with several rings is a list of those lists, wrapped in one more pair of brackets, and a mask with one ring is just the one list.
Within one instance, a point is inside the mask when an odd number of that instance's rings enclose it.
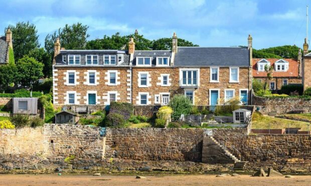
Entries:
{"label": "bright green rounded tree left of the terrace", "polygon": [[30,89],[44,75],[42,72],[44,65],[33,57],[21,58],[16,66],[20,79],[19,83]]}

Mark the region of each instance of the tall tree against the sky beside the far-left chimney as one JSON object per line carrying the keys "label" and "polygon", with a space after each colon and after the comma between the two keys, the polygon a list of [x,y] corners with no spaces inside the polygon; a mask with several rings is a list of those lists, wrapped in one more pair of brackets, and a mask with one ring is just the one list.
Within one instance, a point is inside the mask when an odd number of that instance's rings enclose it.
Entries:
{"label": "tall tree against the sky beside the far-left chimney", "polygon": [[[9,25],[12,31],[13,48],[15,60],[18,61],[34,48],[40,47],[38,30],[34,24],[29,22],[18,22],[16,25]],[[5,30],[7,30],[6,28]]]}

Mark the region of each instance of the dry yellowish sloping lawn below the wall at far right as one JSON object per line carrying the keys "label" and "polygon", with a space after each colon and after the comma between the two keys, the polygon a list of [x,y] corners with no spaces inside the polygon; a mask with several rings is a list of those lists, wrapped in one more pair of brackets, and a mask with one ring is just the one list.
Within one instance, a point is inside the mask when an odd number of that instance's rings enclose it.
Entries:
{"label": "dry yellowish sloping lawn below the wall at far right", "polygon": [[[290,128],[301,128],[300,130],[306,131],[308,128],[308,122],[295,121],[290,119],[282,119],[277,117],[271,117],[262,115],[260,112],[253,112],[252,116],[252,128],[287,128],[288,124]],[[311,129],[311,126],[310,126]]]}

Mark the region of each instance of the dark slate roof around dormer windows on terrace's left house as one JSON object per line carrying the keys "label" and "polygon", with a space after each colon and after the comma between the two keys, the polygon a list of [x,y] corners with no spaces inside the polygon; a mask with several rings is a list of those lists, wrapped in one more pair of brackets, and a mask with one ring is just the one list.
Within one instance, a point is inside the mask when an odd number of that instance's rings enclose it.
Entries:
{"label": "dark slate roof around dormer windows on terrace's left house", "polygon": [[[60,50],[60,54],[56,57],[56,65],[66,65],[66,66],[96,66],[96,65],[87,65],[85,56],[86,55],[98,55],[98,65],[99,66],[106,66],[103,64],[103,55],[111,54],[111,55],[116,55],[117,53],[123,53],[124,58],[123,62],[115,65],[115,66],[127,66],[129,65],[129,55],[128,55],[128,50],[99,50],[99,49],[82,49],[82,50]],[[80,55],[80,64],[79,65],[67,65],[65,62],[62,61],[62,55],[66,55],[68,58],[68,55],[70,54],[76,54]],[[117,57],[116,57],[117,60]],[[108,66],[114,66],[114,65],[108,65]]]}

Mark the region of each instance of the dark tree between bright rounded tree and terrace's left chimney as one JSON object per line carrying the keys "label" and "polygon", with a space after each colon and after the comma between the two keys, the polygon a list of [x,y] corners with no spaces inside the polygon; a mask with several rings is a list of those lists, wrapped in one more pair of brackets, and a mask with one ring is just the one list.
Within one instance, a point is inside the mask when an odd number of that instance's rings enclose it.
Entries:
{"label": "dark tree between bright rounded tree and terrace's left chimney", "polygon": [[48,53],[44,48],[35,48],[28,54],[29,57],[35,58],[37,61],[44,64],[43,74],[44,77],[52,76],[52,58],[51,54]]}

